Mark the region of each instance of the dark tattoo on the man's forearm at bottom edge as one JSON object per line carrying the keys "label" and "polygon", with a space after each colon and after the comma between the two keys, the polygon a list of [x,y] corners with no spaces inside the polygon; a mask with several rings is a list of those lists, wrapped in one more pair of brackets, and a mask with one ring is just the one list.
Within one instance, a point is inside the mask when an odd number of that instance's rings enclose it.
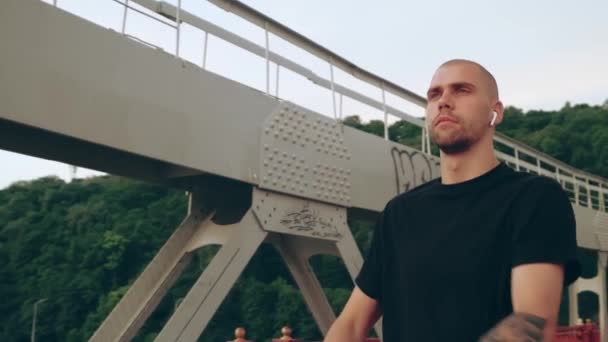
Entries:
{"label": "dark tattoo on the man's forearm at bottom edge", "polygon": [[542,342],[546,320],[526,313],[514,313],[503,319],[479,342]]}

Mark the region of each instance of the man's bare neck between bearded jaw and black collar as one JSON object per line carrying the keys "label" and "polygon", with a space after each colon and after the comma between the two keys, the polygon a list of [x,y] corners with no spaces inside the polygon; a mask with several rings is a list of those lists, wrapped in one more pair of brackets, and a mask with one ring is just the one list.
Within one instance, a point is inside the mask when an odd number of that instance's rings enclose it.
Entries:
{"label": "man's bare neck between bearded jaw and black collar", "polygon": [[441,152],[441,183],[462,183],[483,175],[498,164],[491,144],[477,144],[458,154]]}

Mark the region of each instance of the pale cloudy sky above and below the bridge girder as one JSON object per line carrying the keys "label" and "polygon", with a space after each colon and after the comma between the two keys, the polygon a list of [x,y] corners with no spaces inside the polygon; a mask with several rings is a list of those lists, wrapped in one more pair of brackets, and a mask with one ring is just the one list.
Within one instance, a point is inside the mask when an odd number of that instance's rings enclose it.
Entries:
{"label": "pale cloudy sky above and below the bridge girder", "polygon": [[[47,0],[45,2],[52,2]],[[174,4],[176,0],[168,1]],[[397,0],[243,0],[245,4],[350,60],[357,66],[424,94],[439,64],[467,58],[496,77],[506,105],[524,110],[557,110],[565,102],[597,105],[608,99],[608,1],[397,1]],[[57,0],[58,7],[115,31],[123,9],[112,0]],[[136,6],[136,5],[133,5]],[[206,0],[182,0],[185,10],[264,45],[264,31]],[[126,31],[175,50],[175,30],[133,11]],[[204,34],[188,25],[180,31],[180,57],[202,64]],[[270,50],[330,78],[330,67],[278,37]],[[1,58],[1,56],[0,56]],[[210,36],[206,68],[265,90],[265,61]],[[276,67],[271,65],[271,92]],[[381,91],[334,68],[336,83],[381,101]],[[280,70],[279,97],[328,116],[334,115],[331,92]],[[422,108],[391,94],[387,104],[413,116]],[[339,108],[339,105],[336,105]],[[342,115],[382,119],[382,111],[344,99]],[[337,113],[339,115],[340,113]],[[396,120],[396,118],[391,118]],[[0,189],[18,180],[57,175],[66,180],[66,164],[0,150]],[[77,177],[100,174],[79,168]]]}

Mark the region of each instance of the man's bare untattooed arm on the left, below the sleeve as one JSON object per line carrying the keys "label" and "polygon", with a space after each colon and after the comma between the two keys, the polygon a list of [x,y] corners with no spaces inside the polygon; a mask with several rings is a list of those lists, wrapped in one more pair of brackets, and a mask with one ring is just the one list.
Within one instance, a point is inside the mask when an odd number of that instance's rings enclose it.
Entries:
{"label": "man's bare untattooed arm on the left, below the sleeve", "polygon": [[342,313],[332,324],[325,342],[363,342],[369,329],[381,316],[378,301],[368,297],[357,286]]}

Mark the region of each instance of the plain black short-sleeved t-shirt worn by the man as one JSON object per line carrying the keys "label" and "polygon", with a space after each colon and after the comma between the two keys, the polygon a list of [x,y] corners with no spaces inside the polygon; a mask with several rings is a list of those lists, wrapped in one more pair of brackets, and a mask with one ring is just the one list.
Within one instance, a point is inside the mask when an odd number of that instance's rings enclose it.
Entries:
{"label": "plain black short-sleeved t-shirt worn by the man", "polygon": [[563,264],[568,285],[580,273],[576,248],[560,185],[501,163],[393,198],[356,284],[380,303],[384,341],[477,341],[512,313],[513,267]]}

